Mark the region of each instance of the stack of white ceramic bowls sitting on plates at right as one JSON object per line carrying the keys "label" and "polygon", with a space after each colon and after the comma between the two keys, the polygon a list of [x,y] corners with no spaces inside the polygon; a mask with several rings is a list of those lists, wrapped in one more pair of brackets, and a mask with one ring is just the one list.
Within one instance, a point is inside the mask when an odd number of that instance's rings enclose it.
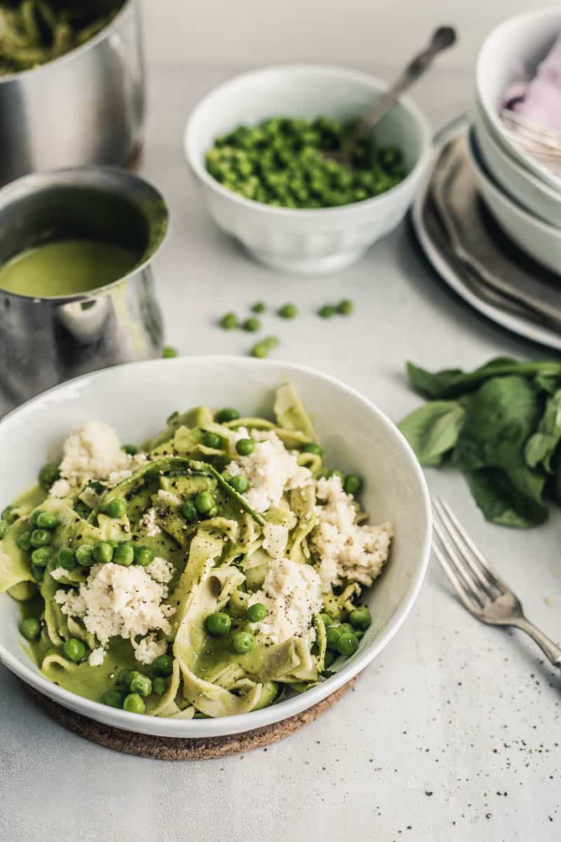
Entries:
{"label": "stack of white ceramic bowls sitting on plates at right", "polygon": [[485,205],[538,263],[561,274],[561,176],[511,141],[500,120],[511,83],[535,76],[561,33],[561,8],[522,14],[494,29],[479,52],[468,159]]}

